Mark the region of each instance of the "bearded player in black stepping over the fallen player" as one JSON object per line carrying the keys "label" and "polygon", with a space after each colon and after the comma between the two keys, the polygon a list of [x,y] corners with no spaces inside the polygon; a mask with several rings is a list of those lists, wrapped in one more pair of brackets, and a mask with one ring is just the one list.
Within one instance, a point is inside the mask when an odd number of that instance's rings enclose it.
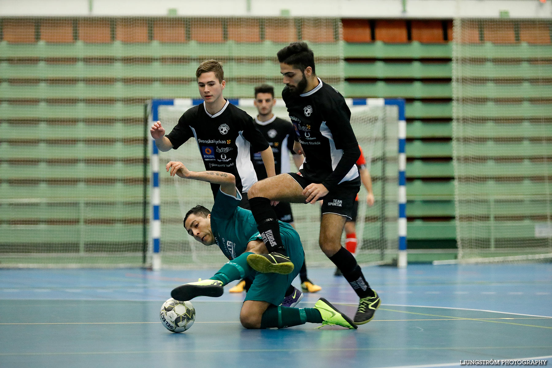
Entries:
{"label": "bearded player in black stepping over the fallen player", "polygon": [[294,151],[304,153],[305,162],[299,174],[276,175],[250,188],[251,210],[269,254],[251,254],[248,263],[261,272],[289,264],[270,201],[315,204],[322,199],[320,248],[360,298],[354,322],[367,323],[380,298],[368,285],[357,260],[341,246],[343,226],[351,218],[360,189],[355,166],[360,151],[351,127],[351,111],[343,96],[316,76],[314,54],[305,42],[278,51],[278,61],[286,84],[282,97],[296,133]]}

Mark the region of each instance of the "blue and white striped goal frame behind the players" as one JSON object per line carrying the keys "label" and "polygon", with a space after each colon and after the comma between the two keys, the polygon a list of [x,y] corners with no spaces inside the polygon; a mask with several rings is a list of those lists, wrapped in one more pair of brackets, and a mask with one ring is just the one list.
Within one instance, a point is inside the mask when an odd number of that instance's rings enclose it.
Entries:
{"label": "blue and white striped goal frame behind the players", "polygon": [[[236,106],[253,106],[254,99],[240,98],[228,99],[231,104]],[[406,114],[405,100],[402,98],[346,98],[349,106],[369,105],[383,106],[396,105],[399,110],[399,219],[398,219],[398,241],[399,241],[399,256],[397,258],[397,266],[404,268],[407,265],[407,250],[406,250]],[[203,103],[203,99],[193,98],[176,98],[176,99],[153,99],[150,102],[150,126],[153,122],[159,120],[159,106],[161,105],[181,105],[195,106]],[[159,156],[155,143],[150,136],[151,143],[151,225],[150,225],[150,242],[149,252],[151,253],[152,269],[158,270],[161,268],[161,192],[159,188]]]}

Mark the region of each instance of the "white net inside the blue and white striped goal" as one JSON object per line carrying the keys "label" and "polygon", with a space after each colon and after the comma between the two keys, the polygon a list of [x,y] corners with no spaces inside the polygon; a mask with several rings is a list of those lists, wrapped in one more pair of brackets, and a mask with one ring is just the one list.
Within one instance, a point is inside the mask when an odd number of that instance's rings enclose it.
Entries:
{"label": "white net inside the blue and white striped goal", "polygon": [[[253,100],[236,101],[251,116],[257,115]],[[158,119],[171,131],[189,101],[158,107]],[[351,124],[363,148],[373,182],[375,204],[366,204],[366,190],[359,193],[357,218],[357,260],[360,264],[391,263],[397,258],[397,108],[396,106],[351,106]],[[289,116],[281,99],[273,110],[278,117]],[[155,143],[154,143],[155,144]],[[197,142],[191,138],[178,150],[158,153],[160,166],[161,264],[163,268],[213,267],[226,262],[216,246],[206,247],[190,237],[183,227],[183,216],[193,206],[213,206],[210,185],[195,180],[171,177],[164,170],[169,161],[182,161],[190,170],[205,170]],[[293,168],[293,160],[290,166]],[[320,206],[291,204],[296,230],[301,236],[308,266],[331,266],[321,252]]]}

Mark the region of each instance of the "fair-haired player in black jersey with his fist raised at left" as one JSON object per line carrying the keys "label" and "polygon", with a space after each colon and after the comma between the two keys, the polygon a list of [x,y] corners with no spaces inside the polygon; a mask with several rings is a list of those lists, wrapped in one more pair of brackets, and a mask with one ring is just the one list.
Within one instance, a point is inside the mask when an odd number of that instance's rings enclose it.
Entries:
{"label": "fair-haired player in black jersey with his fist raised at left", "polygon": [[[219,62],[204,61],[195,76],[203,104],[188,109],[168,135],[164,135],[165,130],[157,121],[151,127],[151,136],[161,151],[176,150],[189,138],[195,137],[205,169],[233,174],[236,187],[246,194],[257,182],[250,148],[261,152],[268,176],[275,175],[272,149],[255,127],[251,116],[222,97],[226,81]],[[215,196],[219,188],[211,184],[211,190]],[[241,206],[248,208],[247,200]]]}

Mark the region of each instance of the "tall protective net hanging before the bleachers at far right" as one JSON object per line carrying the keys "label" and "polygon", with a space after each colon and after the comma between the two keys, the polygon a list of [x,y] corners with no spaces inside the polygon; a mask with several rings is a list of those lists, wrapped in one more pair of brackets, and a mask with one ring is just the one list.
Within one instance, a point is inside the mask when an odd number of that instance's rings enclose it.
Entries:
{"label": "tall protective net hanging before the bleachers at far right", "polygon": [[461,262],[552,258],[552,22],[454,20]]}

